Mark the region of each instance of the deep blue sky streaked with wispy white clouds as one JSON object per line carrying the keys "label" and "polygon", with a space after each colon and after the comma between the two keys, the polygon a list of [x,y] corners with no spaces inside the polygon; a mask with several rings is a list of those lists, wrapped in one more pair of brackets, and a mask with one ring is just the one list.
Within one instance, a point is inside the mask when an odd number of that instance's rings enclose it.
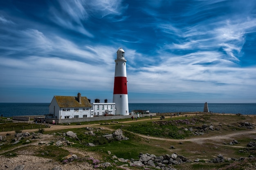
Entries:
{"label": "deep blue sky streaked with wispy white clouds", "polygon": [[2,0],[0,102],[255,103],[255,0]]}

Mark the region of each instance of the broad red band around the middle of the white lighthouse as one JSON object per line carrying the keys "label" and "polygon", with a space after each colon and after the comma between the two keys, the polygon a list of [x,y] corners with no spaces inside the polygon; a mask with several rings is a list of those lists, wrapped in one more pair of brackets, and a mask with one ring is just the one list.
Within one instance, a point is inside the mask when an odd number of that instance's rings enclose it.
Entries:
{"label": "broad red band around the middle of the white lighthouse", "polygon": [[124,94],[127,95],[127,79],[126,77],[115,77],[114,82],[114,95]]}

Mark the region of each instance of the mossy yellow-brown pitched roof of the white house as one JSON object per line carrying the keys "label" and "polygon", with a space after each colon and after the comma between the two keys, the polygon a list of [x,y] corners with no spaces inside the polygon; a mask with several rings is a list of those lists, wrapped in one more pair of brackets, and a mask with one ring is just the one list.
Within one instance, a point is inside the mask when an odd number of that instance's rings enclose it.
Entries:
{"label": "mossy yellow-brown pitched roof of the white house", "polygon": [[76,96],[54,96],[60,108],[92,107],[87,97],[81,96],[81,104]]}

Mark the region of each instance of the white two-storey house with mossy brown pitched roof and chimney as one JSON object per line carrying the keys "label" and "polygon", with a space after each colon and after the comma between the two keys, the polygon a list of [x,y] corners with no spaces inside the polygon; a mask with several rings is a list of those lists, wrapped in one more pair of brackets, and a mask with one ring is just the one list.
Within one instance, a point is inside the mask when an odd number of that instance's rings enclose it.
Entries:
{"label": "white two-storey house with mossy brown pitched roof and chimney", "polygon": [[81,93],[76,96],[54,96],[49,105],[49,115],[45,118],[70,119],[90,117],[91,104]]}

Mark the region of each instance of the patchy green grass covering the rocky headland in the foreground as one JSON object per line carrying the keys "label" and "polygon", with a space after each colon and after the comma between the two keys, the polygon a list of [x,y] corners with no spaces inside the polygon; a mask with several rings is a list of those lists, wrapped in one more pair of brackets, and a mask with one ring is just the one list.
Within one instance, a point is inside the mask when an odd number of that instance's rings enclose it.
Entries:
{"label": "patchy green grass covering the rocky headland in the foreground", "polygon": [[[154,154],[156,156],[177,153],[178,155],[182,155],[192,160],[191,163],[174,165],[173,167],[177,170],[243,170],[245,167],[256,166],[255,159],[246,159],[245,162],[239,161],[239,163],[236,161],[225,161],[222,163],[205,162],[209,159],[216,158],[218,154],[222,154],[225,158],[237,159],[240,157],[248,158],[249,155],[256,157],[254,149],[248,150],[246,148],[249,141],[253,141],[253,139],[256,138],[256,132],[247,133],[253,130],[240,127],[241,122],[255,124],[255,116],[208,114],[189,115],[188,117],[166,117],[164,120],[160,120],[160,118],[151,120],[149,117],[145,117],[140,120],[143,121],[130,122],[130,119],[122,119],[118,120],[118,122],[83,122],[82,125],[91,125],[90,127],[93,128],[92,131],[95,134],[94,136],[85,135],[88,130],[84,127],[45,131],[44,134],[54,134],[52,140],[56,140],[56,138],[62,137],[63,132],[71,130],[76,133],[79,139],[78,141],[77,139],[68,138],[70,142],[74,142],[72,145],[73,148],[95,152],[98,155],[101,155],[102,160],[109,162],[113,162],[113,160],[111,159],[111,156],[108,155],[108,151],[111,152],[111,155],[116,155],[117,157],[124,159],[132,158],[137,160],[139,154],[142,152]],[[100,125],[93,126],[94,124]],[[35,131],[37,131],[38,128],[41,128],[40,125],[32,125]],[[189,128],[195,130],[198,127],[202,127],[202,125],[213,125],[215,128],[218,128],[218,130],[207,130],[203,135],[195,135],[194,132],[187,130]],[[20,129],[25,131],[26,129],[31,129],[31,124],[6,123],[0,124],[0,128],[9,130],[13,130],[14,128],[15,130]],[[118,128],[123,130],[124,136],[128,137],[129,140],[115,141],[101,137],[102,135],[112,133]],[[236,135],[232,136],[231,134]],[[7,140],[11,140],[11,137],[8,138],[7,136]],[[0,150],[0,153],[5,156],[9,155],[9,153],[17,155],[20,150],[33,149],[35,155],[38,157],[50,157],[60,162],[63,161],[62,158],[68,154],[62,147],[53,145],[40,146],[41,149],[34,146],[33,148],[29,148],[31,143],[27,144],[25,142],[26,140],[27,139],[22,139],[22,141],[15,146],[7,144],[7,142],[2,142],[3,145],[1,146],[2,149]],[[238,144],[234,146],[224,144],[229,144],[229,142],[233,140],[237,140]],[[31,140],[31,142],[36,143],[38,140]],[[86,146],[87,143],[93,143],[97,146],[88,147]],[[170,148],[170,146],[174,146],[174,148]],[[14,150],[10,150],[11,148],[14,148]],[[43,154],[41,153],[42,151],[40,151],[42,148],[45,150],[45,153]],[[244,152],[240,152],[241,150],[244,150]],[[193,162],[195,159],[201,159],[202,161]]]}

